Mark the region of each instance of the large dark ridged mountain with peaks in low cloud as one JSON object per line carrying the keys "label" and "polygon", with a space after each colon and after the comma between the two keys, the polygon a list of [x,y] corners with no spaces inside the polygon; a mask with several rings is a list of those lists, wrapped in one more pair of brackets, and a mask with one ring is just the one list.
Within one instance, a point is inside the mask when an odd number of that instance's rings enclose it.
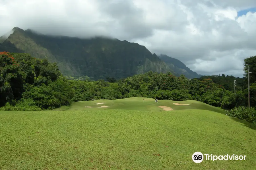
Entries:
{"label": "large dark ridged mountain with peaks in low cloud", "polygon": [[170,71],[176,76],[181,73],[174,71],[179,70],[176,68],[179,67],[177,64],[170,68],[170,63],[166,64],[145,46],[128,41],[106,37],[81,39],[49,36],[18,27],[13,28],[8,35],[0,37],[0,51],[28,53],[35,58],[46,58],[50,62],[56,62],[63,75],[88,76],[97,80],[106,77],[120,79],[148,71]]}

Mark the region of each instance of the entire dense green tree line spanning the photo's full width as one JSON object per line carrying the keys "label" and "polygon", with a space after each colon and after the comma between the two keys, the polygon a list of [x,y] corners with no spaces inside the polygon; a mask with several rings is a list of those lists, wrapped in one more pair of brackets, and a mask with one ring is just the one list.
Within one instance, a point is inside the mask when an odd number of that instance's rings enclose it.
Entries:
{"label": "entire dense green tree line spanning the photo's full width", "polygon": [[[256,105],[256,56],[244,59],[250,67],[250,106]],[[80,79],[80,80],[79,80]],[[0,53],[0,107],[2,110],[43,110],[91,99],[149,97],[174,101],[197,100],[222,109],[247,107],[247,78],[202,76],[187,79],[172,73],[149,71],[122,80],[88,81],[86,76],[69,80],[56,63],[23,53]],[[236,80],[236,96],[234,94]]]}

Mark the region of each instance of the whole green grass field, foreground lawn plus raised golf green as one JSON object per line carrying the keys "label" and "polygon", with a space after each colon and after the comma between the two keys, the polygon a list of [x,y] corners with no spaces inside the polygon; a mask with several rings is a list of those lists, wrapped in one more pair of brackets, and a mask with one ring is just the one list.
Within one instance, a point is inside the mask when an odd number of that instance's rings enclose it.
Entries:
{"label": "whole green grass field, foreground lawn plus raised golf green", "polygon": [[[75,102],[43,112],[1,111],[0,169],[255,169],[254,125],[198,101],[144,99]],[[109,107],[85,108],[101,105]],[[197,151],[247,157],[194,163]]]}

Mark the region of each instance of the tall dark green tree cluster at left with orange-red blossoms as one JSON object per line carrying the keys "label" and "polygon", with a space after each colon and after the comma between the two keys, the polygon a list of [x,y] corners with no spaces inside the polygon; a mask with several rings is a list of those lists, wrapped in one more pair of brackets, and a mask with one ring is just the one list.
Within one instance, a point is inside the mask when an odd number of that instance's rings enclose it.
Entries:
{"label": "tall dark green tree cluster at left with orange-red blossoms", "polygon": [[22,106],[23,102],[54,109],[70,104],[74,90],[55,63],[28,54],[2,52],[0,66],[0,106]]}

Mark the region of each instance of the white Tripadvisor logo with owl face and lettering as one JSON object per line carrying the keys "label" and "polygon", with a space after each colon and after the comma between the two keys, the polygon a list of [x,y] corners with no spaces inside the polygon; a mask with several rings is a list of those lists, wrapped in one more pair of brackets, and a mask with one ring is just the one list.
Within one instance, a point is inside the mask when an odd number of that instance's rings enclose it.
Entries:
{"label": "white Tripadvisor logo with owl face and lettering", "polygon": [[245,160],[246,155],[212,155],[212,154],[202,154],[201,152],[195,152],[192,155],[192,160],[195,163],[201,163],[204,160],[204,155],[205,155],[205,160],[211,160],[211,161],[216,161],[216,160]]}

